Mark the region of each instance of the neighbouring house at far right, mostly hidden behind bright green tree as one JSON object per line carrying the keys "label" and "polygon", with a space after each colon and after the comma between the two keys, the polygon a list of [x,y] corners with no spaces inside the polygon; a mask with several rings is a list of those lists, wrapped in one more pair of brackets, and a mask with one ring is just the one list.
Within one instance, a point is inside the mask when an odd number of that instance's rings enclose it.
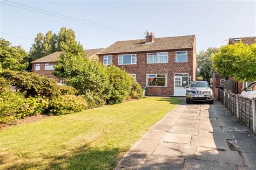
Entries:
{"label": "neighbouring house at far right, mostly hidden behind bright green tree", "polygon": [[[251,45],[253,43],[255,43],[256,41],[256,37],[240,37],[240,38],[230,38],[228,40],[228,44],[229,45],[232,45],[232,44],[235,44],[237,42],[243,42],[244,44],[248,44],[248,45]],[[248,84],[250,84],[250,82],[239,82],[239,81],[235,81],[233,79],[233,77],[230,77],[230,80],[234,81],[235,82],[235,88],[236,88],[236,91],[235,93],[236,94],[241,94],[242,92],[242,89],[246,88],[248,86]]]}

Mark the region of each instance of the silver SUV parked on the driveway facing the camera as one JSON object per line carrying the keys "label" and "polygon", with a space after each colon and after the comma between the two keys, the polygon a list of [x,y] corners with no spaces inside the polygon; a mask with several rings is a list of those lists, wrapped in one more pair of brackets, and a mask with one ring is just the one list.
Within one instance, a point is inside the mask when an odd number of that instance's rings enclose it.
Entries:
{"label": "silver SUV parked on the driveway facing the camera", "polygon": [[207,81],[192,81],[186,91],[186,103],[205,101],[213,104],[213,93]]}

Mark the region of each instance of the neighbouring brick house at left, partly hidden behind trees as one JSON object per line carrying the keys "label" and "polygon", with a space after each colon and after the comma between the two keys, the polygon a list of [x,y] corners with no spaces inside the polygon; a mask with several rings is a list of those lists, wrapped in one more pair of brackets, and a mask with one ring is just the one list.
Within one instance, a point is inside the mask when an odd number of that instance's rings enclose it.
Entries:
{"label": "neighbouring brick house at left, partly hidden behind trees", "polygon": [[[85,49],[84,52],[90,59],[98,59],[97,53],[102,51],[104,48],[97,48],[97,49]],[[59,83],[63,83],[62,80],[57,79],[53,74],[54,65],[57,62],[57,58],[59,54],[62,52],[55,52],[49,55],[44,56],[38,60],[32,61],[32,72],[37,73],[39,75],[43,75],[49,77],[51,79],[55,79]]]}

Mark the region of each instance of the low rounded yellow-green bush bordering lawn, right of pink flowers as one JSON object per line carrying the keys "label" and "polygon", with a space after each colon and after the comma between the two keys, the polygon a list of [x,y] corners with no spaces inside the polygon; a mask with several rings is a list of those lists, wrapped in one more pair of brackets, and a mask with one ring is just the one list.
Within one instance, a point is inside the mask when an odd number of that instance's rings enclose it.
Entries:
{"label": "low rounded yellow-green bush bordering lawn, right of pink flowers", "polygon": [[62,95],[54,98],[49,107],[53,115],[72,114],[87,107],[86,100],[81,96]]}

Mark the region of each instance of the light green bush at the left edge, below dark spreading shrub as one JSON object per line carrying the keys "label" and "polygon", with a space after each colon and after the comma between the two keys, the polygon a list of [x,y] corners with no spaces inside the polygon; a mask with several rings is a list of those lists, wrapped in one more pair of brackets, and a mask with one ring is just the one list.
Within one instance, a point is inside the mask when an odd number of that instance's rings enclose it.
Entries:
{"label": "light green bush at the left edge, below dark spreading shrub", "polygon": [[24,95],[16,91],[0,93],[0,124],[6,125],[15,122],[17,111],[23,107]]}

